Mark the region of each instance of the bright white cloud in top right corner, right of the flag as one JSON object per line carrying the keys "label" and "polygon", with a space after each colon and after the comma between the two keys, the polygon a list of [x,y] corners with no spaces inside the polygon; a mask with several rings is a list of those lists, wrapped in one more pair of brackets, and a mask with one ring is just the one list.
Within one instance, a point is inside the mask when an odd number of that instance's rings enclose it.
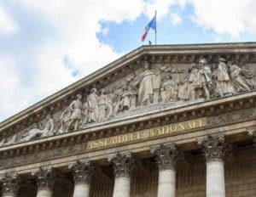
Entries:
{"label": "bright white cloud in top right corner, right of the flag", "polygon": [[256,1],[189,0],[195,8],[194,21],[218,35],[238,38],[242,33],[256,35]]}

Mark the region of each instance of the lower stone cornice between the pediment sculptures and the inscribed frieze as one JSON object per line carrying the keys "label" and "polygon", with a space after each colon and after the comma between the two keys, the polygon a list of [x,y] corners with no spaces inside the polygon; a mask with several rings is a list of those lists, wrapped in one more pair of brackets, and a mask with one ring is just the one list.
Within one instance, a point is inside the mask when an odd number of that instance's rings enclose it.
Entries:
{"label": "lower stone cornice between the pediment sculptures and the inscribed frieze", "polygon": [[[237,96],[218,98],[207,102],[190,104],[189,106],[172,110],[163,110],[158,113],[143,115],[141,117],[123,121],[97,124],[86,127],[77,132],[68,132],[49,138],[41,138],[27,143],[14,144],[0,148],[0,158],[37,153],[48,149],[57,149],[65,146],[84,144],[98,138],[106,138],[122,133],[134,132],[150,127],[158,127],[178,121],[187,121],[199,117],[218,116],[238,110],[253,109],[256,103],[256,92]],[[224,117],[225,118],[225,117]],[[253,117],[252,117],[253,118]],[[237,120],[243,121],[243,120]],[[218,124],[212,121],[214,127]]]}

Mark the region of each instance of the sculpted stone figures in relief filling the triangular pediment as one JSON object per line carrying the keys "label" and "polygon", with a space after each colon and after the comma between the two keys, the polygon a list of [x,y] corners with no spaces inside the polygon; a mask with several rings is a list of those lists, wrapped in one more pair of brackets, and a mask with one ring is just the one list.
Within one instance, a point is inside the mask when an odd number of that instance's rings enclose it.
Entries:
{"label": "sculpted stone figures in relief filling the triangular pediment", "polygon": [[73,132],[87,125],[113,120],[120,113],[150,104],[175,104],[196,99],[221,98],[254,90],[255,68],[236,60],[219,58],[209,64],[207,59],[188,64],[149,64],[129,73],[106,87],[92,87],[85,96],[77,94],[73,101],[42,122],[33,124],[0,144],[22,143]]}

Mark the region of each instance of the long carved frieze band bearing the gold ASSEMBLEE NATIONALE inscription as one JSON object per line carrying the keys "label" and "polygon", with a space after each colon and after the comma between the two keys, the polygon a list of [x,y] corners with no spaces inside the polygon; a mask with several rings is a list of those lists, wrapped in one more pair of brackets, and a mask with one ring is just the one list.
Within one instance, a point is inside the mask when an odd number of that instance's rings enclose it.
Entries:
{"label": "long carved frieze band bearing the gold ASSEMBLEE NATIONALE inscription", "polygon": [[[114,138],[109,137],[106,142],[110,142],[111,140],[109,139],[112,139],[113,144],[108,144],[107,146],[104,146],[104,143],[103,145],[100,146],[99,145],[100,141],[96,141],[97,142],[96,144],[95,143],[90,144],[92,142],[91,141],[89,143],[87,142],[83,144],[73,144],[73,145],[67,145],[65,147],[60,147],[55,149],[41,150],[39,152],[33,152],[26,155],[19,155],[19,156],[12,155],[12,157],[2,157],[2,159],[0,159],[0,169],[5,169],[13,166],[20,166],[20,164],[26,165],[26,164],[44,161],[44,160],[53,160],[57,158],[63,158],[69,155],[84,154],[89,151],[94,151],[96,148],[107,149],[108,147],[111,147],[111,146],[137,143],[138,140],[148,140],[152,138],[165,138],[168,135],[169,136],[173,134],[177,135],[178,132],[180,132],[180,134],[184,132],[191,132],[192,130],[189,129],[189,127],[195,127],[194,128],[195,130],[201,129],[201,128],[209,128],[209,127],[220,127],[226,124],[254,120],[255,118],[256,118],[255,109],[238,110],[238,111],[230,112],[227,114],[222,114],[217,116],[208,116],[201,119],[195,119],[194,121],[192,120],[192,121],[183,121],[179,123],[178,122],[173,123],[171,124],[171,127],[173,127],[174,125],[177,125],[177,127],[179,128],[179,130],[177,130],[176,132],[170,132],[173,130],[170,129],[170,125],[169,125],[169,128],[167,129],[168,125],[166,125],[163,127],[154,127],[149,130],[143,130],[144,132],[148,131],[147,138],[143,138],[142,131],[119,135],[119,139],[116,137]],[[188,130],[184,130],[185,128],[187,128]],[[151,134],[151,138],[149,136],[150,134],[149,131],[151,131],[151,133],[154,133],[154,134]]]}

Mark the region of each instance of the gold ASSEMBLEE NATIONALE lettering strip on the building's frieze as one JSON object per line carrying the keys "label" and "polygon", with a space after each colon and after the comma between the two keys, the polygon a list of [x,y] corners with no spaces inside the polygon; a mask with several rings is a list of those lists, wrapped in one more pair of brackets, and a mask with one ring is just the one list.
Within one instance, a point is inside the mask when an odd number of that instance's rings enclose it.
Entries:
{"label": "gold ASSEMBLEE NATIONALE lettering strip on the building's frieze", "polygon": [[171,125],[163,126],[163,127],[155,127],[152,129],[147,129],[138,132],[131,132],[127,134],[122,134],[110,138],[102,138],[93,141],[89,141],[87,144],[87,149],[101,149],[114,145],[125,144],[129,142],[136,142],[140,140],[144,140],[147,138],[157,138],[159,136],[166,136],[175,132],[183,132],[190,129],[206,127],[207,126],[207,118],[200,118],[191,121],[183,121],[174,123]]}

